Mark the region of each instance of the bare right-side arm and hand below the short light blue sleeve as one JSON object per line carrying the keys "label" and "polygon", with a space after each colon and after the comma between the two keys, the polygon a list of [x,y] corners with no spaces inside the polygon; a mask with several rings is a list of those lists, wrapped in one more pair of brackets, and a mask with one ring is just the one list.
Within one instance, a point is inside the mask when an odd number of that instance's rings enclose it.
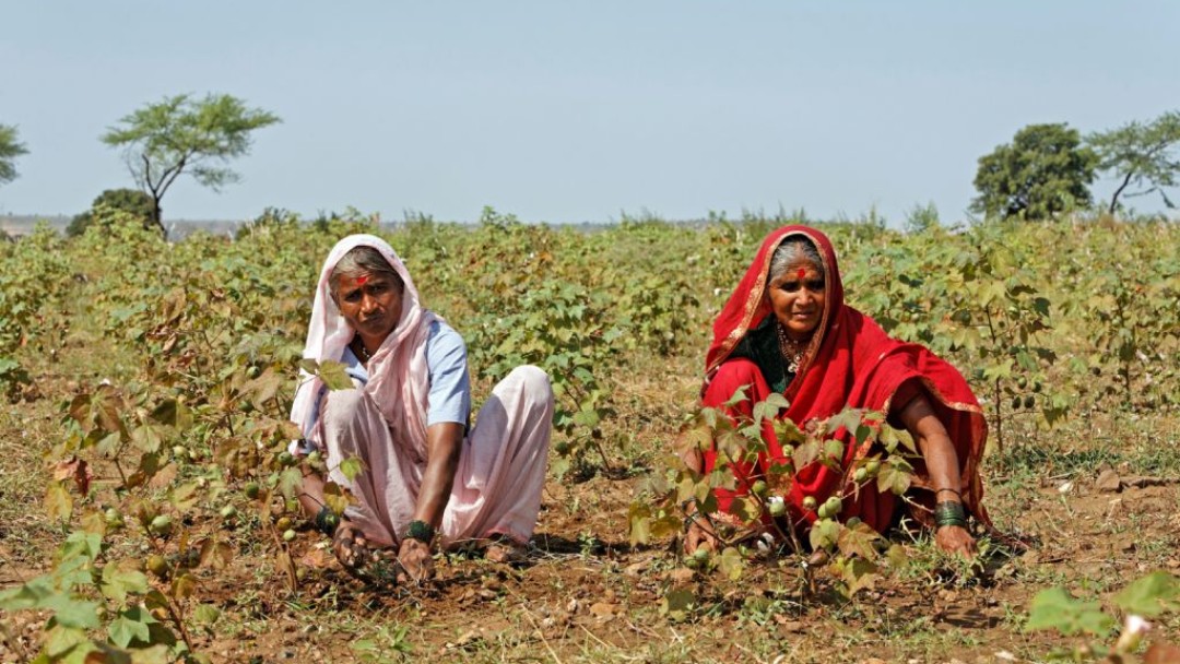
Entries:
{"label": "bare right-side arm and hand below the short light blue sleeve", "polygon": [[[459,468],[463,435],[464,426],[458,422],[438,422],[426,428],[426,473],[414,506],[415,521],[425,521],[435,530],[442,524],[442,512]],[[414,579],[425,579],[433,570],[430,544],[417,539],[401,538],[398,560]]]}

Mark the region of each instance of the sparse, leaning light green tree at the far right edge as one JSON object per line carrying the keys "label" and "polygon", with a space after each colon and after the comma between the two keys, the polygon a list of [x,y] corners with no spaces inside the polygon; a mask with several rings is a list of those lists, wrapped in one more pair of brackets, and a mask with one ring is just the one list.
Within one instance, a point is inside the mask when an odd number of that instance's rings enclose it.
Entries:
{"label": "sparse, leaning light green tree at the far right edge", "polygon": [[[1094,132],[1086,140],[1099,153],[1099,170],[1122,179],[1110,196],[1108,211],[1112,215],[1119,208],[1120,196],[1130,198],[1153,191],[1160,193],[1165,205],[1175,208],[1163,189],[1175,186],[1180,175],[1176,151],[1180,111],[1169,111],[1146,124],[1133,121],[1110,131]],[[1132,185],[1135,191],[1127,191]]]}

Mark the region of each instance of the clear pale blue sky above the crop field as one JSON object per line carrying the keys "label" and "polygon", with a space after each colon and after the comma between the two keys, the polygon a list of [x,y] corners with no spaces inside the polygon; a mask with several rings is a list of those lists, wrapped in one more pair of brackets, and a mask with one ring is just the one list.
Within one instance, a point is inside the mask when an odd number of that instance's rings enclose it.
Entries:
{"label": "clear pale blue sky above the crop field", "polygon": [[133,186],[98,137],[181,92],[283,124],[234,163],[242,183],[178,180],[166,221],[876,205],[899,224],[933,202],[950,222],[978,157],[1027,124],[1180,109],[1173,0],[64,0],[6,2],[0,21],[0,123],[30,150],[0,213],[76,213]]}

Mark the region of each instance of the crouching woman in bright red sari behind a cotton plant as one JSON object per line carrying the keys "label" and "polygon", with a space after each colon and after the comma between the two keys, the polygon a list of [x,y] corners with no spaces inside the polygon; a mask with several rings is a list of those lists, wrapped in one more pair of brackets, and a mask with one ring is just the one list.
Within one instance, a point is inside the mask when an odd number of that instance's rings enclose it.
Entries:
{"label": "crouching woman in bright red sari behind a cotton plant", "polygon": [[[907,495],[926,508],[912,509],[912,517],[935,526],[935,540],[944,551],[975,553],[966,513],[990,525],[981,505],[979,461],[988,429],[978,401],[952,366],[923,346],[891,338],[872,318],[844,303],[835,251],[822,232],[793,225],[762,242],[713,326],[704,370],[702,405],[733,415],[752,415],[754,403],[772,393],[789,403],[779,416],[800,428],[850,407],[886,414],[892,425],[910,432],[922,454]],[[747,399],[726,406],[739,389]],[[785,458],[768,429],[767,454],[758,464],[733,465],[736,489],[715,489],[719,512],[735,495],[748,493],[769,464]],[[858,451],[851,436],[845,438],[847,467],[867,449]],[[715,448],[689,449],[686,462],[712,472],[716,456]],[[784,497],[787,515],[792,522],[813,522],[815,512],[804,506],[804,499],[822,504],[844,493],[846,481],[843,473],[819,462],[796,469]],[[878,492],[874,482],[854,495],[844,501],[841,521],[858,517],[879,532],[893,522],[898,497]],[[689,521],[686,545],[689,552],[716,548],[706,519]]]}

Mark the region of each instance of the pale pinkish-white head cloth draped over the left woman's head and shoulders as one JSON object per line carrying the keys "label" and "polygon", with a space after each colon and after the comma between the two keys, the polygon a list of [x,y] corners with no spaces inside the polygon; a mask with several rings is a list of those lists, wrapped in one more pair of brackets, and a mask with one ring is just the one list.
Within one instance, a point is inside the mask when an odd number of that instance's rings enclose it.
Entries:
{"label": "pale pinkish-white head cloth draped over the left woman's head and shoulders", "polygon": [[[346,254],[358,246],[376,249],[389,263],[389,267],[401,277],[401,316],[389,336],[369,359],[367,370],[369,381],[365,392],[376,401],[381,414],[395,434],[425,449],[426,446],[426,397],[428,396],[428,374],[426,367],[426,340],[430,327],[440,320],[433,313],[424,309],[418,297],[414,280],[406,265],[389,243],[374,235],[350,235],[332,248],[328,258],[320,270],[320,283],[315,290],[315,302],[312,304],[312,321],[308,323],[307,342],[303,346],[303,357],[307,360],[336,360],[343,355],[345,347],[352,341],[356,330],[348,324],[340,308],[332,297],[330,285],[336,263]],[[301,372],[300,387],[291,406],[291,421],[307,430],[308,419],[314,413],[315,400],[319,399],[322,381],[317,376]]]}

